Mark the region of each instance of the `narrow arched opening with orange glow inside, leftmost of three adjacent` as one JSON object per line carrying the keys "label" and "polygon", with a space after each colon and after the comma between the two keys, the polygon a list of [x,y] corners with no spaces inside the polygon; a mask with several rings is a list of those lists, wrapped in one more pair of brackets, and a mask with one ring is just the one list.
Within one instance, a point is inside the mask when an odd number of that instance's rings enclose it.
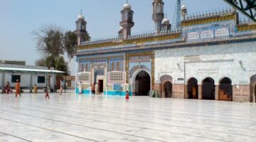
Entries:
{"label": "narrow arched opening with orange glow inside, leftmost of three adjacent", "polygon": [[198,99],[198,81],[196,78],[188,80],[188,99]]}

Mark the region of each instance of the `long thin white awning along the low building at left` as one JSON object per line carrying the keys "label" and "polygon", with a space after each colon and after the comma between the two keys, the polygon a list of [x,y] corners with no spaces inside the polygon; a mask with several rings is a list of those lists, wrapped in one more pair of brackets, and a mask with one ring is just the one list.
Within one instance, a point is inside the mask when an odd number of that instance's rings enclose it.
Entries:
{"label": "long thin white awning along the low building at left", "polygon": [[59,70],[20,68],[20,67],[0,67],[0,72],[40,72],[40,73],[65,73]]}

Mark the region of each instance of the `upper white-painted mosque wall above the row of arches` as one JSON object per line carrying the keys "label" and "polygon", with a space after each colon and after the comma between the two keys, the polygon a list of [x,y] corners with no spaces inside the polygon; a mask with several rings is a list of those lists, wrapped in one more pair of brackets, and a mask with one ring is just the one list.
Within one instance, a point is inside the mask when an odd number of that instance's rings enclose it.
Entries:
{"label": "upper white-painted mosque wall above the row of arches", "polygon": [[[156,83],[162,75],[171,75],[177,84],[186,84],[191,77],[198,84],[206,77],[212,77],[215,84],[223,77],[230,77],[233,84],[250,84],[250,76],[256,74],[255,45],[256,42],[155,50]],[[185,80],[178,82],[178,78]]]}

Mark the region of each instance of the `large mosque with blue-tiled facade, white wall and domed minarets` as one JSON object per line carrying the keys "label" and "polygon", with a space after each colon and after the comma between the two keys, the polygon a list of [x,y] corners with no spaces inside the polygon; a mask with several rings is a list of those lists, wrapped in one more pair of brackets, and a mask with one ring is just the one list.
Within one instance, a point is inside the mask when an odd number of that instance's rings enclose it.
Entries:
{"label": "large mosque with blue-tiled facade, white wall and domed minarets", "polygon": [[76,21],[76,82],[107,95],[255,102],[256,24],[240,21],[235,9],[188,16],[181,6],[180,27],[154,0],[153,33],[132,35],[132,6],[121,11],[118,38],[85,40],[84,16]]}

